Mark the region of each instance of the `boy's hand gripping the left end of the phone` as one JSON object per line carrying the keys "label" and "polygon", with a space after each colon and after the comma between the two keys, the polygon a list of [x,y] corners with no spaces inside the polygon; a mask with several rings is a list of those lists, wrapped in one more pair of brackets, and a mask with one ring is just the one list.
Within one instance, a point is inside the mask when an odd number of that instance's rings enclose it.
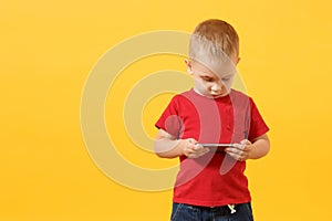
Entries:
{"label": "boy's hand gripping the left end of the phone", "polygon": [[209,151],[209,148],[197,145],[194,138],[181,140],[183,155],[188,158],[198,158]]}

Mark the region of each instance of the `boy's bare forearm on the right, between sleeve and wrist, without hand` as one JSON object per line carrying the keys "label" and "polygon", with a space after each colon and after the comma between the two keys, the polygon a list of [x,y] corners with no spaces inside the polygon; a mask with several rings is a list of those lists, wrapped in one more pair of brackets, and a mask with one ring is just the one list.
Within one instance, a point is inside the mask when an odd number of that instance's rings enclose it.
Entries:
{"label": "boy's bare forearm on the right, between sleeve and wrist, without hand", "polygon": [[259,159],[270,151],[270,140],[267,135],[253,140],[248,159]]}

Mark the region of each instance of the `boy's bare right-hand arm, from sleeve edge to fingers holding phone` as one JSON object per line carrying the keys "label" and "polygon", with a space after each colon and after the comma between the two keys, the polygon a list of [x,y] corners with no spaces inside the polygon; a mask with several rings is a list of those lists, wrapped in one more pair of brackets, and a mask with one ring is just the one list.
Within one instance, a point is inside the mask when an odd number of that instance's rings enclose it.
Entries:
{"label": "boy's bare right-hand arm, from sleeve edge to fingers holding phone", "polygon": [[259,159],[270,151],[270,140],[264,134],[253,139],[252,143],[245,139],[235,147],[226,148],[225,151],[239,161]]}

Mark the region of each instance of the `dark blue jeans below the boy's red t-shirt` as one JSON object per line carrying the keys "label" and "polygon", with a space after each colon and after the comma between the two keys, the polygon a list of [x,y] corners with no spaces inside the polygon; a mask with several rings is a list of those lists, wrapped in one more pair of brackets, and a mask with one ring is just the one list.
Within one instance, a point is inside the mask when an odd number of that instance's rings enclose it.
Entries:
{"label": "dark blue jeans below the boy's red t-shirt", "polygon": [[231,213],[228,206],[198,207],[184,203],[173,203],[172,221],[253,221],[250,202],[235,206]]}

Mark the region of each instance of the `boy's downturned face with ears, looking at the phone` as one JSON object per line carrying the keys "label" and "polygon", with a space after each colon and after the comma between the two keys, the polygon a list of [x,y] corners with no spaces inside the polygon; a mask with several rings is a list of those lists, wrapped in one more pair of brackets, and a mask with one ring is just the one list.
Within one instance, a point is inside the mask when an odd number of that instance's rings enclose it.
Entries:
{"label": "boy's downturned face with ears, looking at the phone", "polygon": [[[222,97],[230,93],[235,72],[216,73],[201,63],[189,61],[186,63],[188,73],[194,76],[196,92],[209,98]],[[232,59],[232,63],[237,64],[238,59]]]}

